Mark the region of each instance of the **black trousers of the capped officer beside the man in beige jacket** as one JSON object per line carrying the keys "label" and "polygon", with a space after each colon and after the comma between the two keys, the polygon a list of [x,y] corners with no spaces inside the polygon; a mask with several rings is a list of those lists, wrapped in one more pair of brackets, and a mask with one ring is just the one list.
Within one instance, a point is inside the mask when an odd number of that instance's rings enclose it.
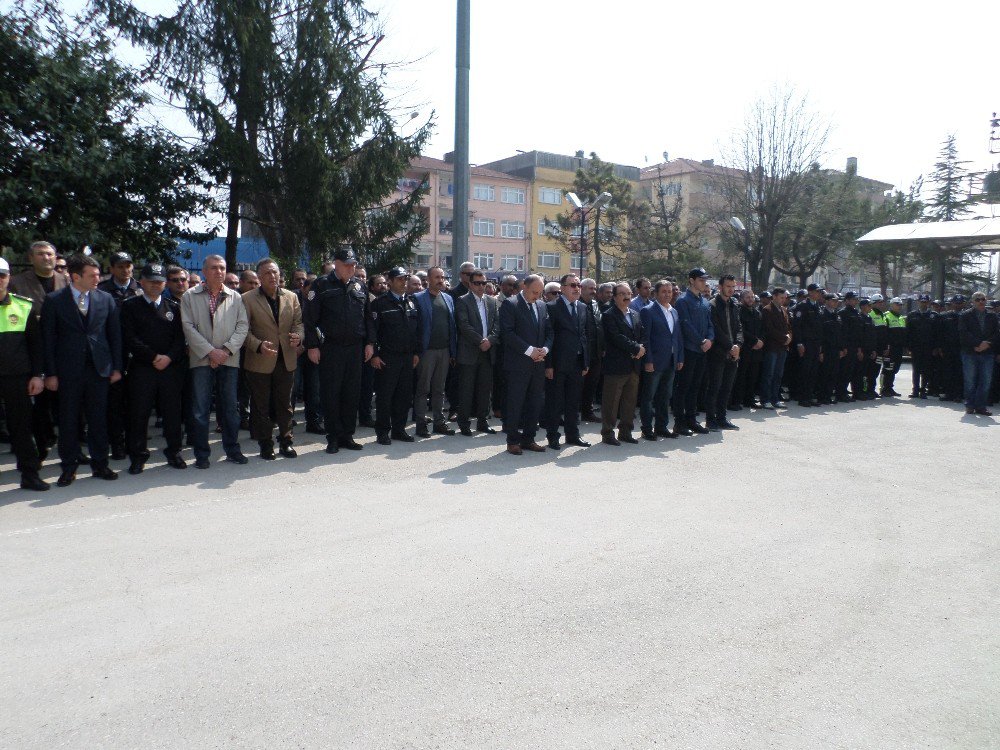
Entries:
{"label": "black trousers of the capped officer beside the man in beige jacket", "polygon": [[167,442],[163,452],[173,458],[183,447],[184,407],[181,392],[187,367],[172,364],[165,370],[157,370],[150,365],[129,368],[125,378],[128,388],[128,455],[133,461],[149,458],[146,431],[149,416],[156,407],[163,421],[163,438]]}

